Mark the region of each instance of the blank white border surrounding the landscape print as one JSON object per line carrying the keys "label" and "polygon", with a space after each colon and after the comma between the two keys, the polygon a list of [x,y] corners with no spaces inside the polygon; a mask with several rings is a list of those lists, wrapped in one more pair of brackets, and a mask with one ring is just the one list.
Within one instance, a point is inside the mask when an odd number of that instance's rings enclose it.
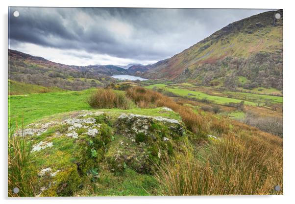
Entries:
{"label": "blank white border surrounding the landscape print", "polygon": [[[0,194],[3,203],[41,203],[52,204],[62,201],[64,203],[120,203],[120,204],[149,204],[149,203],[219,203],[219,204],[248,204],[268,203],[278,204],[291,201],[295,190],[294,177],[294,145],[295,134],[293,118],[295,116],[294,97],[294,13],[292,1],[278,0],[1,0],[1,182]],[[284,9],[284,195],[281,196],[192,196],[192,197],[90,197],[90,198],[33,198],[8,199],[7,198],[7,7],[8,6],[58,6],[58,7],[170,7],[170,8],[283,8]],[[294,199],[293,199],[294,200]],[[289,203],[289,202],[288,202]]]}

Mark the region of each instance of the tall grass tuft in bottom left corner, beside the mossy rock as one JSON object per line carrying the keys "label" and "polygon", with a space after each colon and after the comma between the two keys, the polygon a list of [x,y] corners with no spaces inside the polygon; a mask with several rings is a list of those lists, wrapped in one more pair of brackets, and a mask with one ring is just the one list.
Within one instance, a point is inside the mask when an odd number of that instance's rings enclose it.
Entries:
{"label": "tall grass tuft in bottom left corner, beside the mossy rock", "polygon": [[[11,129],[8,135],[8,196],[9,197],[29,197],[34,195],[32,179],[27,180],[25,167],[31,157],[32,144],[23,131],[18,135],[13,135]],[[14,193],[13,189],[20,191]]]}

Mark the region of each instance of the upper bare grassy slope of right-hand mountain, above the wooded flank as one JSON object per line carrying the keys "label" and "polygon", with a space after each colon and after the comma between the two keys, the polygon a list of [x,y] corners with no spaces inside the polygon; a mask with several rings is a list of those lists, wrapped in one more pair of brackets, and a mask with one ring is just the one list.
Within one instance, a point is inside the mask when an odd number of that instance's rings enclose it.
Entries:
{"label": "upper bare grassy slope of right-hand mountain, above the wooded flank", "polygon": [[[226,56],[247,58],[251,53],[260,51],[276,53],[283,46],[283,29],[281,21],[277,22],[280,26],[273,26],[272,19],[273,12],[265,12],[231,23],[167,59],[165,64],[155,65],[154,69],[148,71],[150,75],[147,76],[174,79],[186,68],[194,70],[197,64],[214,63]],[[255,26],[258,22],[266,26],[258,28]]]}

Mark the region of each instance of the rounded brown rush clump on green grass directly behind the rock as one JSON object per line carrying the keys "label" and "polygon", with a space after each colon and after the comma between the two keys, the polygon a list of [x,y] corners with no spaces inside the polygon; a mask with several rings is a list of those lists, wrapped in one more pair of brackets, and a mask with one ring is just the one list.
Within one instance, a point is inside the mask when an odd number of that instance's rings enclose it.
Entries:
{"label": "rounded brown rush clump on green grass directly behind the rock", "polygon": [[130,100],[125,94],[113,90],[98,89],[87,99],[87,103],[95,109],[130,108]]}

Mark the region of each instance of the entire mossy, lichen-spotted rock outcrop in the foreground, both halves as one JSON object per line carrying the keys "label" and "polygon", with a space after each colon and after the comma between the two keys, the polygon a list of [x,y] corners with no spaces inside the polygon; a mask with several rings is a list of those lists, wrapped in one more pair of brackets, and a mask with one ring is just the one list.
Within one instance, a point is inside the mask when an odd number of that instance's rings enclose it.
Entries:
{"label": "entire mossy, lichen-spotted rock outcrop in the foreground, both halves", "polygon": [[186,134],[180,121],[161,116],[103,111],[50,116],[22,131],[32,143],[25,177],[35,196],[79,195],[103,171],[152,174],[187,142]]}

